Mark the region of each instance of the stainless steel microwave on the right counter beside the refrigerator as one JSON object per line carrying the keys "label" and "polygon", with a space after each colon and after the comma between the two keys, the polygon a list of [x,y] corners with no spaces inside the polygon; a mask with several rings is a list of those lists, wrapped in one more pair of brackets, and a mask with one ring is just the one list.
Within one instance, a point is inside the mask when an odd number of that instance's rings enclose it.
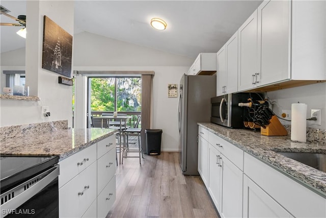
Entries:
{"label": "stainless steel microwave on the right counter beside the refrigerator", "polygon": [[243,107],[238,103],[247,102],[249,93],[239,92],[216,96],[210,99],[210,122],[222,126],[243,128]]}

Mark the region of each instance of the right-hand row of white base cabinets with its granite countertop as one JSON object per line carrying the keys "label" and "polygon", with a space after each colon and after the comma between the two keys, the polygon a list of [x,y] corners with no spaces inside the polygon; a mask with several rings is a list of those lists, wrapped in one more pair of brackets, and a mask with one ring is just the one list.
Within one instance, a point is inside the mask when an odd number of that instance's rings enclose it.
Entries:
{"label": "right-hand row of white base cabinets with its granite countertop", "polygon": [[326,216],[326,173],[277,153],[326,154],[324,131],[303,143],[198,125],[198,171],[222,217]]}

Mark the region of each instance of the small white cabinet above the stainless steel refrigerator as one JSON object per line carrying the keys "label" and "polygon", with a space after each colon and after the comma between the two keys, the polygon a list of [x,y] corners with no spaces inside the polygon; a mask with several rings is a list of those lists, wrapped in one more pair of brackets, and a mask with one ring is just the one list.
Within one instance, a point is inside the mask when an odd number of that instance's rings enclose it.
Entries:
{"label": "small white cabinet above the stainless steel refrigerator", "polygon": [[200,53],[187,75],[213,75],[216,72],[216,53]]}

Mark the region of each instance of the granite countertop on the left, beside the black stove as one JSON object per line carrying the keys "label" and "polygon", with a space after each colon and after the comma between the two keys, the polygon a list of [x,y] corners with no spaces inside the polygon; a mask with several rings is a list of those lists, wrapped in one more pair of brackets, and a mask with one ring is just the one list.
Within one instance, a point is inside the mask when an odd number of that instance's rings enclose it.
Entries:
{"label": "granite countertop on the left, beside the black stove", "polygon": [[107,138],[115,129],[65,129],[1,141],[2,155],[59,155],[66,158]]}

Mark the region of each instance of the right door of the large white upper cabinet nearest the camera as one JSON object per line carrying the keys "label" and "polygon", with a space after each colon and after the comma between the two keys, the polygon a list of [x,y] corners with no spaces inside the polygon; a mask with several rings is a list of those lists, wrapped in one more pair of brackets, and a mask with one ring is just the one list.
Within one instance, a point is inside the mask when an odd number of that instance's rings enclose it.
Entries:
{"label": "right door of the large white upper cabinet nearest the camera", "polygon": [[257,86],[290,78],[291,1],[264,1],[258,7]]}

